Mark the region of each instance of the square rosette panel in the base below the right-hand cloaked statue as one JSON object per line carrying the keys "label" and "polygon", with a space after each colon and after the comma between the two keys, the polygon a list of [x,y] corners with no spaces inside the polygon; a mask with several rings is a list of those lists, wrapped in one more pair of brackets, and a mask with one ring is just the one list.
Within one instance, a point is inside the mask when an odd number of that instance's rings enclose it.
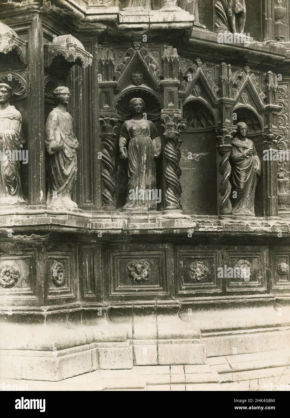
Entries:
{"label": "square rosette panel in the base below the right-hand cloaked statue", "polygon": [[227,247],[225,250],[225,271],[228,271],[225,278],[226,290],[267,291],[266,247],[260,250],[257,247],[234,248],[231,250]]}

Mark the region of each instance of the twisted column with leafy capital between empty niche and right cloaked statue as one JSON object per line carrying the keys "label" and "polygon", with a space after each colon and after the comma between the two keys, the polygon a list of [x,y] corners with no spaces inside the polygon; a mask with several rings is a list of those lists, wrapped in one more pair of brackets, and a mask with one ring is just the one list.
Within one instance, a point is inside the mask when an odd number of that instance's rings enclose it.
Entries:
{"label": "twisted column with leafy capital between empty niche and right cloaked statue", "polygon": [[232,171],[229,157],[232,150],[231,142],[235,131],[230,132],[229,129],[223,128],[215,131],[217,134],[217,150],[220,154],[219,163],[219,211],[221,215],[232,213],[232,204],[230,202],[230,173]]}

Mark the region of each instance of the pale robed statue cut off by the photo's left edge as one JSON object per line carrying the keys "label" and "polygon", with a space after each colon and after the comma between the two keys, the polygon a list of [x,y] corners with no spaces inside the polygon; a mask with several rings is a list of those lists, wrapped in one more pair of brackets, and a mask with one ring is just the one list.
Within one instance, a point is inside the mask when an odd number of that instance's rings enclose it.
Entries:
{"label": "pale robed statue cut off by the photo's left edge", "polygon": [[0,84],[0,205],[26,204],[20,181],[19,156],[25,142],[22,138],[22,118],[9,98],[12,89]]}

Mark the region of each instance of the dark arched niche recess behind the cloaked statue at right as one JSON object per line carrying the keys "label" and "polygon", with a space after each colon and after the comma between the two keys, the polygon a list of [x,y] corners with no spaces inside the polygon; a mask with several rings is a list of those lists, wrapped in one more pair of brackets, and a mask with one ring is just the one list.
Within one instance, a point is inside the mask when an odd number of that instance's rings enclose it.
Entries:
{"label": "dark arched niche recess behind the cloaked statue at right", "polygon": [[248,126],[247,138],[253,141],[257,154],[261,161],[262,173],[258,180],[255,192],[255,216],[264,216],[264,193],[263,193],[263,119],[258,112],[249,105],[238,105],[233,108],[233,114],[237,114],[234,125],[245,122]]}

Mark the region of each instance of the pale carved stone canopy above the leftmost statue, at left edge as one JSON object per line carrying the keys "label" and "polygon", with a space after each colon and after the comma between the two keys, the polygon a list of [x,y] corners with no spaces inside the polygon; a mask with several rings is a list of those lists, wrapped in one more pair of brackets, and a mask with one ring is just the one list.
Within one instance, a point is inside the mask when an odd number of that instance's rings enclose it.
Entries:
{"label": "pale carved stone canopy above the leftmost statue, at left edge", "polygon": [[19,38],[9,26],[0,22],[0,52],[8,54],[15,50],[23,64],[27,64],[28,42]]}

